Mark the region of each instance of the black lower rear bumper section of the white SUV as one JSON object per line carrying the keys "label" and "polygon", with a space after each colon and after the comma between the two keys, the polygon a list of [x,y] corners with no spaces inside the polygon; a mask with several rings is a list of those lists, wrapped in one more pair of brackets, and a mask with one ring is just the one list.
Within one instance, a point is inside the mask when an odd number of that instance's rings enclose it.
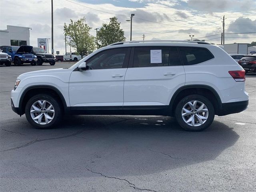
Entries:
{"label": "black lower rear bumper section of the white SUV", "polygon": [[249,100],[222,103],[222,110],[219,112],[218,116],[224,116],[233,113],[239,113],[248,108]]}

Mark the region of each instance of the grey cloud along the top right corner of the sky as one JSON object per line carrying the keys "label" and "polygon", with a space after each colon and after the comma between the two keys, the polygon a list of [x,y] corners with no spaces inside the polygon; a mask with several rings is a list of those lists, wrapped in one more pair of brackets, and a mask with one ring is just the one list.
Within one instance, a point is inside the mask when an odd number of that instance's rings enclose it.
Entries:
{"label": "grey cloud along the top right corner of the sky", "polygon": [[188,0],[188,6],[204,12],[224,12],[228,10],[255,10],[255,0]]}

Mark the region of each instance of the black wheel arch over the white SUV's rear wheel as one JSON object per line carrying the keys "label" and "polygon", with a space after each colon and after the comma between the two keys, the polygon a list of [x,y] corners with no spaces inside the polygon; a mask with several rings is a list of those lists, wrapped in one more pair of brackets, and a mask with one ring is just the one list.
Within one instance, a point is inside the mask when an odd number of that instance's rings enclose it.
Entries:
{"label": "black wheel arch over the white SUV's rear wheel", "polygon": [[208,98],[210,101],[212,101],[216,115],[218,115],[222,110],[222,102],[221,102],[220,96],[218,95],[216,90],[214,90],[214,88],[208,85],[200,85],[200,84],[185,85],[180,87],[178,90],[176,90],[176,92],[172,96],[172,99],[170,100],[169,106],[171,110],[171,116],[174,116],[175,108],[178,102],[185,96],[188,96],[188,94],[202,95]]}

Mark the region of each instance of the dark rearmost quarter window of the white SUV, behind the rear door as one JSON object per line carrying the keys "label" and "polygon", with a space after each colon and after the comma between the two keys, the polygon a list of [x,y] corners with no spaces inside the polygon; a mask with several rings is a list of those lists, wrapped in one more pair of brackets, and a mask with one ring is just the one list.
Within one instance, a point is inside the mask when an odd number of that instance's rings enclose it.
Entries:
{"label": "dark rearmost quarter window of the white SUV, behind the rear door", "polygon": [[195,65],[214,58],[206,48],[180,47],[179,49],[184,65]]}

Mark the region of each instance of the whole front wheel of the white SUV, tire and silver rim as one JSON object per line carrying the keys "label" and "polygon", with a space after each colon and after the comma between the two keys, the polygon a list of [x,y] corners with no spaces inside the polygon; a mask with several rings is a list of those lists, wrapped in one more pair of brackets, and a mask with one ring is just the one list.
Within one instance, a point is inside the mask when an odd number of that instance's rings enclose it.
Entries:
{"label": "whole front wheel of the white SUV, tire and silver rim", "polygon": [[[52,105],[52,107],[50,107],[50,105]],[[57,125],[62,118],[62,111],[60,102],[50,94],[38,94],[33,96],[28,100],[25,107],[28,122],[35,128],[40,129],[52,128]],[[32,117],[38,118],[33,120]]]}

